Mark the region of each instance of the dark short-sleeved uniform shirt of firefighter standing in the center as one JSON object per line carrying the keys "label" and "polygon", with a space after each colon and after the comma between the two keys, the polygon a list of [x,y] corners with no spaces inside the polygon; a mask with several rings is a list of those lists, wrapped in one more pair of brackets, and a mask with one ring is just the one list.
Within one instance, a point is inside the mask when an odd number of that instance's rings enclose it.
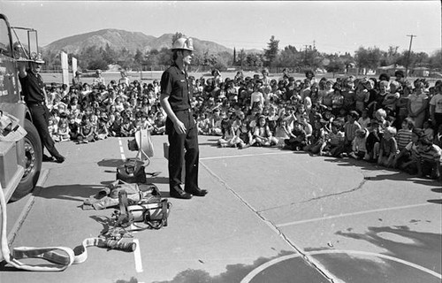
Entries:
{"label": "dark short-sleeved uniform shirt of firefighter standing in the center", "polygon": [[161,76],[161,91],[169,96],[171,110],[174,112],[190,109],[194,89],[189,85],[187,73],[171,65]]}

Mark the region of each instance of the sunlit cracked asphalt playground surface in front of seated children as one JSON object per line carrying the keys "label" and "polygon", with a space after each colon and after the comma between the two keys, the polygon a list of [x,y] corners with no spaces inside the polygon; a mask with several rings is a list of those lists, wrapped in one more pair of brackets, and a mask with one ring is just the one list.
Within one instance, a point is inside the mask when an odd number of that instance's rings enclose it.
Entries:
{"label": "sunlit cracked asphalt playground surface in front of seated children", "polygon": [[[148,181],[168,196],[166,136],[152,137]],[[134,233],[134,253],[88,249],[65,272],[13,272],[9,282],[441,282],[442,185],[362,161],[277,148],[220,149],[199,136],[205,197],[169,198],[169,226]],[[11,244],[75,247],[110,210],[80,210],[134,157],[127,138],[57,144]],[[24,200],[25,202],[25,200]],[[18,202],[19,203],[19,202]],[[19,204],[11,203],[9,230]]]}

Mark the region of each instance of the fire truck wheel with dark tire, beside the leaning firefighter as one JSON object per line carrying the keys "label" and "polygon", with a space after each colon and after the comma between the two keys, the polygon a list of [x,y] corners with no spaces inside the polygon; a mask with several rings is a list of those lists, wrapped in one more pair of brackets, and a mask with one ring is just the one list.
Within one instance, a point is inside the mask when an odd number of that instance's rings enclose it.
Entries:
{"label": "fire truck wheel with dark tire, beside the leaning firefighter", "polygon": [[32,192],[42,170],[43,150],[40,135],[34,124],[28,119],[25,120],[25,130],[27,131],[25,136],[25,174],[11,196],[10,201],[12,202]]}

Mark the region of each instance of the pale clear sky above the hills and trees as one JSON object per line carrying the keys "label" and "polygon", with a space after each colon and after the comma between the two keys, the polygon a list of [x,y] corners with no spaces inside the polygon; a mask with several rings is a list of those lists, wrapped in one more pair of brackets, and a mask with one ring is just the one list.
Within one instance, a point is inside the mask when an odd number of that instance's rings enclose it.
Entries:
{"label": "pale clear sky above the hills and trees", "polygon": [[441,1],[6,1],[15,27],[38,30],[39,45],[103,28],[156,37],[181,32],[236,50],[279,49],[354,54],[398,46],[432,54],[442,47]]}

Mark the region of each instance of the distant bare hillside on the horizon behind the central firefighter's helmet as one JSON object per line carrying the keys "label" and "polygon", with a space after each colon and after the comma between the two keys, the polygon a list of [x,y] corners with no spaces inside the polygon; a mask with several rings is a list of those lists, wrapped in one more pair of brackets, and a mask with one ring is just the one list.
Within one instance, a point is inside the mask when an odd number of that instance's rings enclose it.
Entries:
{"label": "distant bare hillside on the horizon behind the central firefighter's helmet", "polygon": [[[52,42],[43,47],[45,52],[57,52],[64,50],[67,53],[78,54],[81,50],[90,46],[97,48],[105,48],[109,44],[113,50],[130,50],[132,52],[138,50],[161,50],[163,48],[171,48],[171,38],[173,34],[163,34],[160,37],[146,35],[140,32],[128,32],[119,29],[102,29],[87,34],[77,34],[62,38],[56,42]],[[218,53],[226,51],[232,53],[233,50],[226,48],[216,42],[202,41],[194,39],[194,49],[203,52],[209,50],[210,53]]]}

